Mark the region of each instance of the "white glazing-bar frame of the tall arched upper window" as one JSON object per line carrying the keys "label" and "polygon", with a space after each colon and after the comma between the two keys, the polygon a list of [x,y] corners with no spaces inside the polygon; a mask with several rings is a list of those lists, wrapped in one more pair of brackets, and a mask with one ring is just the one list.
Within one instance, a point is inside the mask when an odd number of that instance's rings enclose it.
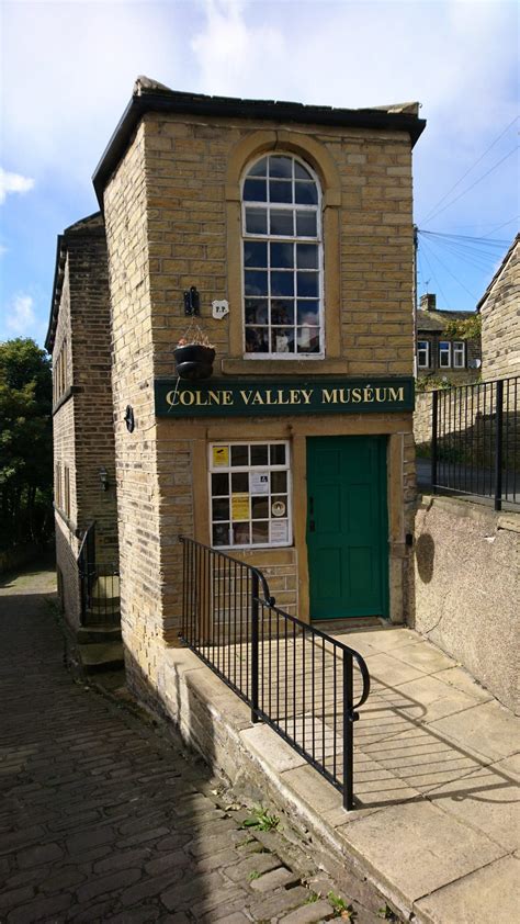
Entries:
{"label": "white glazing-bar frame of the tall arched upper window", "polygon": [[[313,178],[316,190],[317,190],[317,198],[318,201],[316,205],[304,205],[298,204],[296,202],[276,202],[272,203],[272,207],[276,211],[295,211],[299,209],[302,211],[308,211],[316,214],[316,237],[290,237],[289,235],[260,235],[260,234],[252,234],[246,230],[246,207],[247,209],[259,209],[268,211],[271,207],[271,203],[269,200],[267,202],[246,202],[244,199],[244,185],[246,180],[249,178],[249,172],[264,157],[289,157],[292,160],[297,161],[302,165],[302,167],[310,174]],[[268,189],[269,189],[269,181],[268,181]],[[325,358],[325,284],[324,284],[324,236],[323,236],[323,190],[321,183],[313,170],[313,168],[301,157],[293,154],[292,151],[285,150],[268,150],[264,151],[260,157],[256,157],[255,160],[248,164],[242,179],[240,181],[240,204],[241,204],[241,229],[240,229],[240,285],[241,285],[241,304],[242,304],[242,356],[247,360],[263,360],[267,359],[281,359],[281,360],[320,360]],[[313,353],[303,353],[303,352],[293,352],[293,353],[278,353],[278,352],[264,352],[264,353],[257,353],[257,352],[248,352],[246,349],[246,268],[244,264],[244,241],[245,240],[258,240],[258,241],[265,241],[268,245],[270,241],[279,241],[280,244],[317,244],[318,245],[318,301],[319,301],[319,311],[318,311],[318,329],[319,329],[319,340],[320,340],[320,350],[319,352]],[[271,267],[269,266],[269,246],[268,246],[268,272],[270,272]],[[296,301],[297,296],[295,296],[295,311],[296,308]],[[273,325],[269,325],[269,334],[271,334],[271,327]],[[276,326],[276,325],[274,325]],[[297,324],[294,325],[295,335],[297,329]]]}

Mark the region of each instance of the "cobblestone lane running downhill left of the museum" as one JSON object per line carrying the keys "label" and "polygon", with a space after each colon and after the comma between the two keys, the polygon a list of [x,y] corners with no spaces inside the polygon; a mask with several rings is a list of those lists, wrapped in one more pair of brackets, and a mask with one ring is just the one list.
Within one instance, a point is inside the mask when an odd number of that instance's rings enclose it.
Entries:
{"label": "cobblestone lane running downhill left of the museum", "polygon": [[[0,585],[1,924],[313,924],[338,913],[304,849],[241,827],[250,812],[202,762],[72,680],[45,601],[52,578]],[[357,889],[354,920],[375,922],[378,897]]]}

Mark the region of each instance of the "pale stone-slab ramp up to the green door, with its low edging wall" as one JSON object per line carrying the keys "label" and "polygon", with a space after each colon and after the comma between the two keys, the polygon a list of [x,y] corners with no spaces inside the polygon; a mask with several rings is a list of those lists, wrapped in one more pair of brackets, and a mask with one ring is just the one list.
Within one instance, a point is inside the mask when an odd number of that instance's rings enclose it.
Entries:
{"label": "pale stone-slab ramp up to the green door, with its low edging wall", "polygon": [[170,712],[199,746],[213,737],[214,763],[235,785],[249,776],[338,866],[358,863],[405,920],[513,924],[519,720],[410,629],[334,634],[363,655],[372,681],[354,726],[351,812],[272,729],[251,725],[246,705],[189,650],[167,653]]}

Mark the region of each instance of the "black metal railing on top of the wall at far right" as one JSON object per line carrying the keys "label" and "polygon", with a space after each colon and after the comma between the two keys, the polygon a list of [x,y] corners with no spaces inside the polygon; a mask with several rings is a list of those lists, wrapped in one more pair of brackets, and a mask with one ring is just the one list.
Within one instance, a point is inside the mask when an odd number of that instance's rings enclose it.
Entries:
{"label": "black metal railing on top of the wall at far right", "polygon": [[433,392],[431,485],[520,504],[520,378]]}

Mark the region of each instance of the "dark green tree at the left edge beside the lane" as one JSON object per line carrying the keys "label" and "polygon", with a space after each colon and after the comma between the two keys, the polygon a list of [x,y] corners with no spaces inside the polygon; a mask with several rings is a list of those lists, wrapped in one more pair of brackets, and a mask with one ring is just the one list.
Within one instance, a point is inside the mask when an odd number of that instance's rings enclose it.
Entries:
{"label": "dark green tree at the left edge beside the lane", "polygon": [[52,533],[53,378],[29,338],[0,343],[0,548]]}

